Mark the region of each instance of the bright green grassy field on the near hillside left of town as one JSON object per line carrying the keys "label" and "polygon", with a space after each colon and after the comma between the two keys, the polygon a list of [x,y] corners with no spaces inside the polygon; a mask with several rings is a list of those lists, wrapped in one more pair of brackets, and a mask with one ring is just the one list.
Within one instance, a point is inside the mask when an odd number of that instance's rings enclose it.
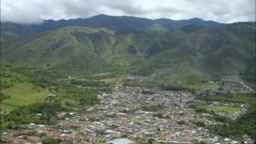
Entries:
{"label": "bright green grassy field on the near hillside left of town", "polygon": [[15,83],[14,86],[2,90],[3,94],[10,95],[1,102],[1,109],[6,112],[14,110],[18,106],[28,106],[33,102],[42,102],[50,92],[34,86],[31,83]]}

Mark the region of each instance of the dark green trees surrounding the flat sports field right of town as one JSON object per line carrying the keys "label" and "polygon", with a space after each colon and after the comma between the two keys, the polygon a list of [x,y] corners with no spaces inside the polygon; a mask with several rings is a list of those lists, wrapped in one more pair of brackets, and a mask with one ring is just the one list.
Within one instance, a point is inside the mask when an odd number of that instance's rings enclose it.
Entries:
{"label": "dark green trees surrounding the flat sports field right of town", "polygon": [[[224,125],[211,125],[206,126],[211,132],[222,135],[224,137],[231,136],[234,139],[241,138],[242,135],[249,135],[251,138],[255,138],[255,118],[256,118],[256,101],[254,94],[219,94],[209,95],[204,98],[200,98],[206,102],[235,102],[235,103],[249,103],[249,108],[245,115],[242,115],[235,121],[230,121],[229,118],[219,116],[211,112],[214,115],[214,119],[218,122],[223,122]],[[218,106],[215,110],[225,110],[233,113],[237,111],[237,108],[230,106]]]}

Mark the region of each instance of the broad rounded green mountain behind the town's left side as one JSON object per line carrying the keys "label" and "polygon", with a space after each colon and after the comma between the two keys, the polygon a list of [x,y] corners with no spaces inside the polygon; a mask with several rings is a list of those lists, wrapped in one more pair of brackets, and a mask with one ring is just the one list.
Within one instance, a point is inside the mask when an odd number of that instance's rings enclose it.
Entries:
{"label": "broad rounded green mountain behind the town's left side", "polygon": [[[60,68],[67,71],[101,70],[108,65],[102,58],[105,46],[113,45],[111,32],[105,29],[69,27],[39,34],[29,41],[21,39],[2,45],[3,57],[19,66]],[[58,69],[58,70],[60,70]]]}

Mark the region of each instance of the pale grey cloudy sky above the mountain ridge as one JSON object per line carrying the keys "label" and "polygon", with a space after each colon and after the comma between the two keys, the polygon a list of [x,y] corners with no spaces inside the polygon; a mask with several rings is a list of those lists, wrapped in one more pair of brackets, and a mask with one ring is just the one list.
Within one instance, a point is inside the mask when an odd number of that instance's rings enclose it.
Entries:
{"label": "pale grey cloudy sky above the mountain ridge", "polygon": [[255,21],[255,0],[1,0],[1,21],[7,22],[38,23],[96,14],[245,22]]}

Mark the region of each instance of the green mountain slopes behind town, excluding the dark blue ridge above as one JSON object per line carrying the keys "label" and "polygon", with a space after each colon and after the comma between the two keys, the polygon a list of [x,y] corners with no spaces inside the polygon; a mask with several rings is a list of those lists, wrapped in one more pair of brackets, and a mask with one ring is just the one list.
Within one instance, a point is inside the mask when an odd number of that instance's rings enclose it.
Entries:
{"label": "green mountain slopes behind town, excluding the dark blue ridge above", "polygon": [[158,76],[153,82],[172,90],[198,89],[198,84],[204,86],[222,74],[240,74],[248,81],[254,78],[253,24],[217,26],[216,30],[201,25],[192,25],[191,30],[191,25],[168,30],[162,23],[154,25],[161,30],[127,29],[128,33],[119,30],[113,34],[100,28],[60,26],[30,38],[3,42],[2,55],[52,78],[153,74]]}

